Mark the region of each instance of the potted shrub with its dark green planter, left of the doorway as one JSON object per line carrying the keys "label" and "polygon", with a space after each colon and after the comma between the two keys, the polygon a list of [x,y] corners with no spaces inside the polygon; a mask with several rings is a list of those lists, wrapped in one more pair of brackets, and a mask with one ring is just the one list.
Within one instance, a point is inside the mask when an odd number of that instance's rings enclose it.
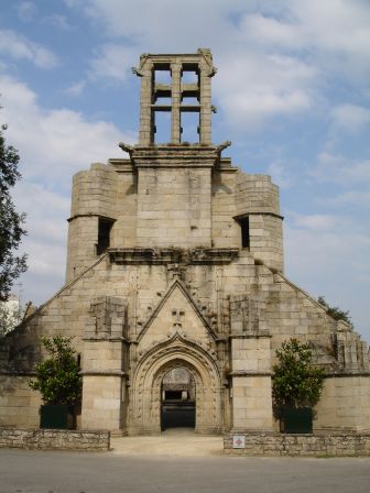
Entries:
{"label": "potted shrub with its dark green planter, left of the doorway", "polygon": [[36,364],[35,380],[29,385],[40,391],[44,404],[40,412],[41,428],[73,428],[74,406],[81,395],[81,376],[72,348],[72,338],[42,337],[50,358]]}

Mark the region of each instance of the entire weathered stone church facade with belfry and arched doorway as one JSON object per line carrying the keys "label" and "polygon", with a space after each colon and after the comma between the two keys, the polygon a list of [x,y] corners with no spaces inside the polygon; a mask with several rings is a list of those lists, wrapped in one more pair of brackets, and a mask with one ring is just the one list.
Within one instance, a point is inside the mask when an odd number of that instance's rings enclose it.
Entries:
{"label": "entire weathered stone church facade with belfry and arched doorway", "polygon": [[[326,371],[315,430],[370,429],[366,343],[284,277],[271,178],[242,172],[222,156],[229,142],[211,142],[210,52],[144,54],[133,72],[139,143],[74,177],[66,284],[0,342],[0,426],[39,426],[28,380],[46,333],[74,337],[83,429],[157,434],[173,402],[198,432],[278,429],[272,365],[292,337]],[[197,143],[182,142],[187,113]]]}

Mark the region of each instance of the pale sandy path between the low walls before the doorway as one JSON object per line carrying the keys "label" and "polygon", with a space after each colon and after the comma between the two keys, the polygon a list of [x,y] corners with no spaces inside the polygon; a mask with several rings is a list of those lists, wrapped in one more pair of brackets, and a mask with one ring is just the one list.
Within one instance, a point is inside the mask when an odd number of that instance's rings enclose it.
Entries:
{"label": "pale sandy path between the low walls before the doorway", "polygon": [[224,454],[222,437],[168,429],[154,437],[111,438],[112,453],[129,457],[215,457]]}

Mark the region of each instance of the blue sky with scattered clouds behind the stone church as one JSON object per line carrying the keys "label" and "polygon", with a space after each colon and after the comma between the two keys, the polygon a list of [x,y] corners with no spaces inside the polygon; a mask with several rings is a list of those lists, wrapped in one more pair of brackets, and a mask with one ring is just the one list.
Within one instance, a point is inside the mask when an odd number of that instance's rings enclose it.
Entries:
{"label": "blue sky with scattered clouds behind the stone church", "polygon": [[137,141],[140,54],[209,47],[213,140],[280,185],[285,274],[370,341],[369,25],[368,0],[2,0],[0,121],[29,231],[14,292],[63,285],[72,176]]}

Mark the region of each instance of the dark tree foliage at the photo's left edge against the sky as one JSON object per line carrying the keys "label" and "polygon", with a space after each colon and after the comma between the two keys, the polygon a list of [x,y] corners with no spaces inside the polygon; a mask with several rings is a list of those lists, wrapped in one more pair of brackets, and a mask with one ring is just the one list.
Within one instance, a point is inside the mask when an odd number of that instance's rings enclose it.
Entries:
{"label": "dark tree foliage at the photo's left edge against the sky", "polygon": [[26,255],[15,253],[25,234],[22,227],[25,215],[17,212],[10,196],[10,189],[21,177],[20,157],[12,145],[6,144],[6,130],[7,125],[0,127],[0,302],[8,299],[13,281],[26,271]]}

